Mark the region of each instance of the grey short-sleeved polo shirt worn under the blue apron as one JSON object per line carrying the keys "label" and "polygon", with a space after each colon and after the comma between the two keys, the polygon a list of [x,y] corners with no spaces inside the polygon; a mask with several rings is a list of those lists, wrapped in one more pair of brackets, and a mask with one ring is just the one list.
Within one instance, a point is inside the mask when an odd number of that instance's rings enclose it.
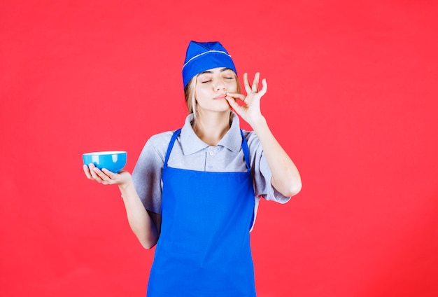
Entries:
{"label": "grey short-sleeved polo shirt worn under the blue apron", "polygon": [[[197,137],[190,124],[193,115],[185,119],[181,134],[172,148],[169,167],[208,172],[245,172],[246,163],[241,149],[239,117],[232,113],[232,124],[217,146],[209,146]],[[155,134],[146,142],[132,172],[132,179],[146,209],[161,213],[162,169],[167,147],[174,131]],[[271,170],[255,132],[243,130],[248,141],[251,175],[255,192],[254,218],[260,198],[285,203],[290,197],[281,195],[271,185]],[[254,219],[255,221],[255,219]]]}

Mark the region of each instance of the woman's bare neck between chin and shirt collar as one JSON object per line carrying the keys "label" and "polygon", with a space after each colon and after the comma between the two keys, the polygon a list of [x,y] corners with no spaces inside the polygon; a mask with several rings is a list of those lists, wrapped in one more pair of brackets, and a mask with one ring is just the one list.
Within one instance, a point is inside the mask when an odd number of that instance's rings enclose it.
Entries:
{"label": "woman's bare neck between chin and shirt collar", "polygon": [[197,137],[210,146],[216,146],[229,130],[229,111],[223,113],[198,113],[193,130]]}

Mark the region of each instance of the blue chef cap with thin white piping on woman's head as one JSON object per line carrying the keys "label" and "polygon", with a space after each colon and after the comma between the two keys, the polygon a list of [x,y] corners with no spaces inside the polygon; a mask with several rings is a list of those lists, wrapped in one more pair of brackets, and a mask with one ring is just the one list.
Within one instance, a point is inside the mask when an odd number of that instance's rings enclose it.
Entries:
{"label": "blue chef cap with thin white piping on woman's head", "polygon": [[184,88],[193,76],[216,67],[226,67],[237,73],[231,55],[222,44],[190,41],[183,66]]}

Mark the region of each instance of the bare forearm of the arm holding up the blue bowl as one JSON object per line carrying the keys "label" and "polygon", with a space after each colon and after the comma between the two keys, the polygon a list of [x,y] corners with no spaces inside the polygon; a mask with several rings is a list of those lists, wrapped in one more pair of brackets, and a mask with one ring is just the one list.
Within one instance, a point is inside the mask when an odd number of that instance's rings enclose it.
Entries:
{"label": "bare forearm of the arm holding up the blue bowl", "polygon": [[125,203],[129,226],[139,239],[141,245],[146,249],[150,249],[158,240],[159,231],[157,226],[155,226],[153,219],[143,206],[132,180],[126,184],[119,185],[119,189]]}

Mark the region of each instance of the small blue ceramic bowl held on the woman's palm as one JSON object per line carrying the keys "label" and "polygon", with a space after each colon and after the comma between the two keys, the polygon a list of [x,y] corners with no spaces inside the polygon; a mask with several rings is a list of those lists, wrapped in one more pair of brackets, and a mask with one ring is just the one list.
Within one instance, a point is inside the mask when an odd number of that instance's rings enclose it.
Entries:
{"label": "small blue ceramic bowl held on the woman's palm", "polygon": [[127,153],[126,151],[96,151],[84,153],[82,160],[85,165],[93,163],[100,170],[106,168],[111,172],[118,173],[126,165]]}

